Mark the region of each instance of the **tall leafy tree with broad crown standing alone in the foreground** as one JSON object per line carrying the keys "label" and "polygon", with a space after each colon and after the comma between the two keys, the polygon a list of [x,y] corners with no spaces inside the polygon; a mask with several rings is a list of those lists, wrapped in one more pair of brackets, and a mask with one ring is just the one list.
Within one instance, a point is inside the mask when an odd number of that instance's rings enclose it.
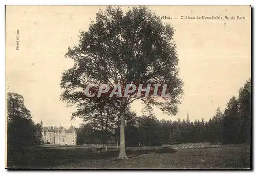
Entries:
{"label": "tall leafy tree with broad crown standing alone in the foreground", "polygon": [[[120,154],[125,154],[124,113],[127,107],[141,99],[146,111],[155,105],[164,113],[175,115],[181,100],[182,80],[178,77],[178,56],[173,40],[174,29],[163,24],[148,8],[133,7],[125,13],[120,7],[108,7],[96,14],[89,30],[81,32],[79,44],[69,48],[66,57],[74,60],[74,67],[63,72],[61,88],[63,101],[77,104],[87,100],[84,90],[91,83],[104,83],[114,89],[120,84],[134,84],[136,91],[127,97],[114,95],[120,111]],[[153,85],[148,97],[137,95],[138,85],[163,84],[167,96],[153,96]],[[91,91],[92,92],[92,91]],[[97,98],[97,94],[94,98]]]}

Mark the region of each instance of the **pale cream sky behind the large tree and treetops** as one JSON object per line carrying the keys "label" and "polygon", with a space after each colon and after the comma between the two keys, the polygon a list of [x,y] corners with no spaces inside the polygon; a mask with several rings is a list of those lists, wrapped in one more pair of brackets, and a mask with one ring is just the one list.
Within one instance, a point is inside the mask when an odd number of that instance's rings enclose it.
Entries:
{"label": "pale cream sky behind the large tree and treetops", "polygon": [[[74,107],[59,100],[60,78],[73,67],[65,58],[68,47],[78,43],[79,31],[87,31],[91,19],[104,6],[7,6],[6,7],[6,85],[7,92],[21,94],[35,123],[71,124]],[[122,7],[127,10],[127,7]],[[159,119],[208,120],[217,107],[223,111],[232,96],[251,75],[251,31],[249,6],[150,6],[175,28],[184,96],[176,116]],[[241,16],[245,19],[181,19],[181,16]],[[16,34],[19,31],[19,49]],[[139,101],[132,109],[141,115]]]}

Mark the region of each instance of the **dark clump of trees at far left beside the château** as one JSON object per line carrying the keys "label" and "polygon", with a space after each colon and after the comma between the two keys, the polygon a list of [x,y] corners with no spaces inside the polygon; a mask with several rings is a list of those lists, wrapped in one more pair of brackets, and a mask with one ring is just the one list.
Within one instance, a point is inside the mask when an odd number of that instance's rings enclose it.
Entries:
{"label": "dark clump of trees at far left beside the ch\u00e2teau", "polygon": [[7,94],[7,167],[26,167],[33,157],[27,152],[41,140],[40,124],[35,124],[22,95]]}

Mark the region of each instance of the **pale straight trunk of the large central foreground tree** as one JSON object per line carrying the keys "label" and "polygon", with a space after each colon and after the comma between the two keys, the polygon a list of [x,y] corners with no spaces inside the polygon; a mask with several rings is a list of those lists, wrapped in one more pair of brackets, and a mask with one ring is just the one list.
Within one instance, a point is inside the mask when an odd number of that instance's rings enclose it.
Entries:
{"label": "pale straight trunk of the large central foreground tree", "polygon": [[122,159],[122,160],[125,160],[125,159],[128,159],[127,156],[126,156],[126,153],[125,153],[125,136],[124,136],[124,126],[125,126],[125,119],[124,119],[124,114],[125,114],[125,105],[124,105],[124,102],[125,102],[125,98],[123,98],[123,108],[122,108],[122,113],[120,115],[120,121],[121,121],[121,124],[120,124],[120,152],[119,152],[119,156],[118,156],[118,159]]}

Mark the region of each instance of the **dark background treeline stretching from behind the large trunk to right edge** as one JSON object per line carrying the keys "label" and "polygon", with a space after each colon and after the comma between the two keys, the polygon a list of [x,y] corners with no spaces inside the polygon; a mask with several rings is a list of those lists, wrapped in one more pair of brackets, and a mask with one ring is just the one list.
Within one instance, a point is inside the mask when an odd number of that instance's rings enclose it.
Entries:
{"label": "dark background treeline stretching from behind the large trunk to right edge", "polygon": [[[156,117],[132,117],[126,121],[125,143],[128,146],[211,142],[223,144],[250,143],[251,79],[232,97],[224,111],[217,108],[215,115],[188,122],[187,120],[159,120]],[[94,130],[89,124],[77,129],[77,143],[102,143],[106,132]],[[103,135],[104,134],[104,135]],[[119,141],[119,128],[107,133],[108,142]]]}

